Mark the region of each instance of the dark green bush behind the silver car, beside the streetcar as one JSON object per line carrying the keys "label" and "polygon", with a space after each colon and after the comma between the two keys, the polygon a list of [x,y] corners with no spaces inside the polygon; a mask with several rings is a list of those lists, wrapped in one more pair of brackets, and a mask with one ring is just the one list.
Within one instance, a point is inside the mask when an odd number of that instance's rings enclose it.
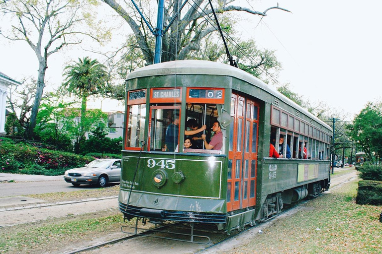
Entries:
{"label": "dark green bush behind the silver car, beside the streetcar", "polygon": [[[81,153],[112,153],[120,154],[122,150],[122,137],[109,138],[106,137],[107,132],[97,127],[89,135],[89,139],[85,140],[81,146]],[[120,157],[120,155],[118,156]]]}

